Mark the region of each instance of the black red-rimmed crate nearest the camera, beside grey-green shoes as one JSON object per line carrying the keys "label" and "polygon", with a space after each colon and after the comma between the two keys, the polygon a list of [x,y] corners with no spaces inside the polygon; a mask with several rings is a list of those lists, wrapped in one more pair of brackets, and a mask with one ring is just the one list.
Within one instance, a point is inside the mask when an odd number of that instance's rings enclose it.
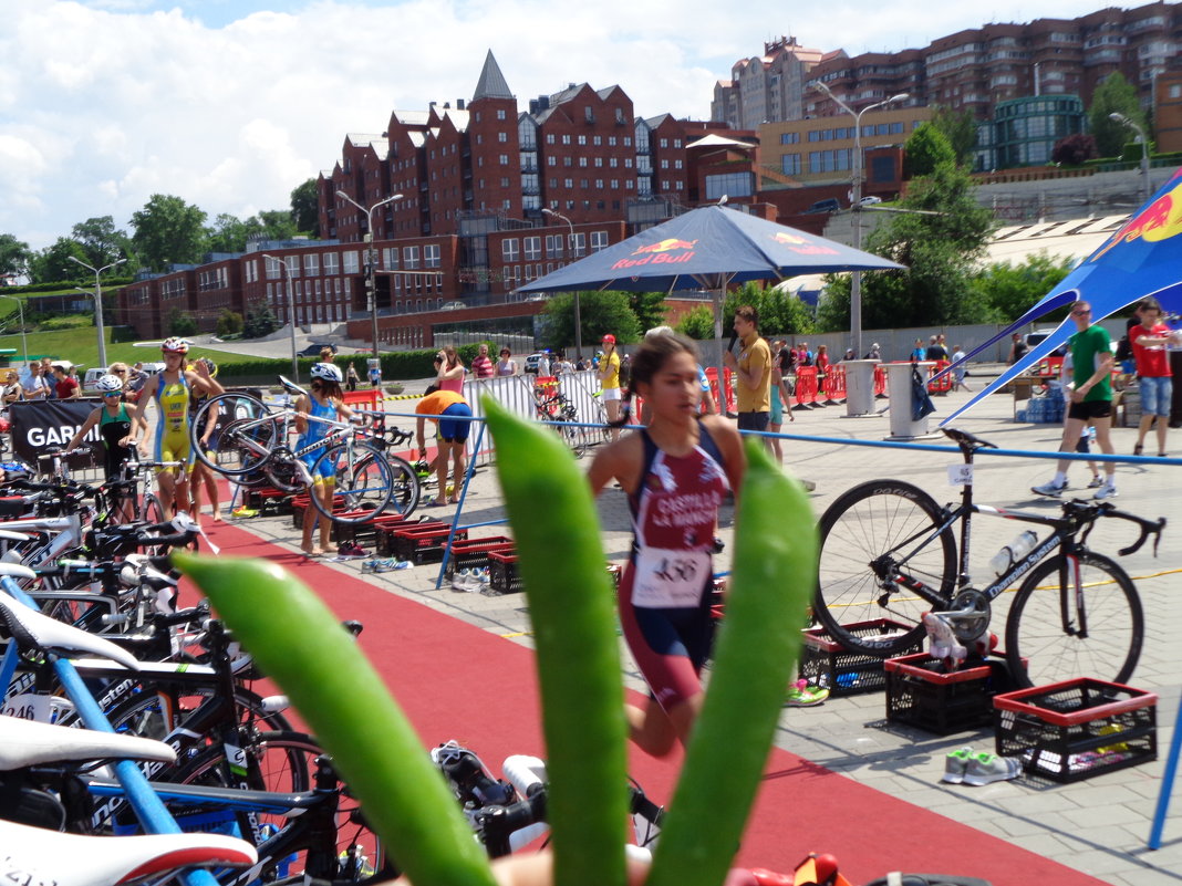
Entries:
{"label": "black red-rimmed crate nearest the camera, beside grey-green shoes", "polygon": [[1087,677],[993,699],[998,754],[1076,782],[1157,758],[1157,696]]}

